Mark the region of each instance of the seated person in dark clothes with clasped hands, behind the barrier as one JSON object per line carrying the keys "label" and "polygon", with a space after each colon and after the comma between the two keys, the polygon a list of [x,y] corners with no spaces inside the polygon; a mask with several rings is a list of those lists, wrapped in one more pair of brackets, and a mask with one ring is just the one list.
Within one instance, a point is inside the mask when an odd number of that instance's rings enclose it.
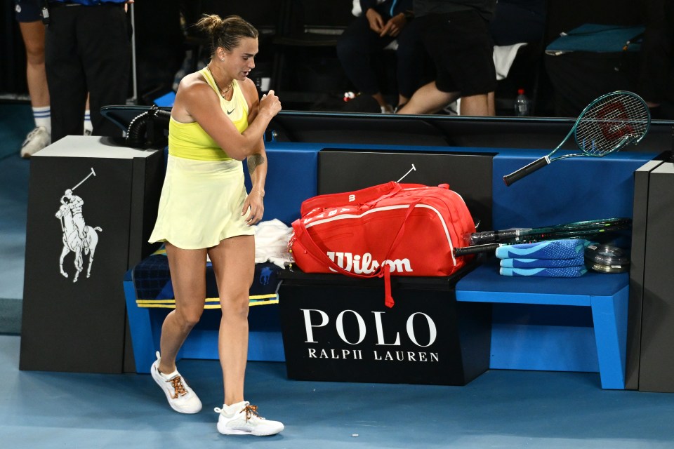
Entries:
{"label": "seated person in dark clothes with clasped hands, behind the barrier", "polygon": [[407,103],[419,88],[423,72],[424,49],[414,23],[412,0],[354,0],[357,15],[337,42],[337,56],[344,72],[356,88],[371,95],[381,112],[392,113],[385,100],[378,71],[374,66],[377,53],[396,42],[396,78],[399,106]]}

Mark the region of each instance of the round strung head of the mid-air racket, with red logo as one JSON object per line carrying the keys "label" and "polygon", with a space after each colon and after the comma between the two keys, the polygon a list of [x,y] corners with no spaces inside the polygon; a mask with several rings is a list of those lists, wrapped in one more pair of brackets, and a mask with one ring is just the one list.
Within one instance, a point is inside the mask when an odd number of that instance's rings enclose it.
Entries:
{"label": "round strung head of the mid-air racket, with red logo", "polygon": [[590,156],[602,156],[647,133],[650,115],[645,102],[635,95],[606,95],[590,105],[576,126],[576,143]]}

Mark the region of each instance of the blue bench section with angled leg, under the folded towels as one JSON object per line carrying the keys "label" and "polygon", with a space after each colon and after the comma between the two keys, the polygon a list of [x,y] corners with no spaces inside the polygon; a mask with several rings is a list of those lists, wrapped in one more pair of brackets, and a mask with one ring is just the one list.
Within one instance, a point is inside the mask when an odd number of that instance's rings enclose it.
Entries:
{"label": "blue bench section with angled leg, under the folded towels", "polygon": [[[564,307],[587,308],[590,313],[587,321],[574,318],[567,326],[558,309],[552,309],[558,321],[541,319],[543,314],[531,310],[528,314],[516,314],[513,321],[495,321],[489,367],[596,371],[593,368],[596,362],[602,388],[624,389],[628,284],[628,273],[588,272],[579,278],[501,276],[498,264],[489,260],[458,281],[456,300],[491,302],[494,307],[559,306],[561,314]],[[515,354],[517,357],[513,358]]]}

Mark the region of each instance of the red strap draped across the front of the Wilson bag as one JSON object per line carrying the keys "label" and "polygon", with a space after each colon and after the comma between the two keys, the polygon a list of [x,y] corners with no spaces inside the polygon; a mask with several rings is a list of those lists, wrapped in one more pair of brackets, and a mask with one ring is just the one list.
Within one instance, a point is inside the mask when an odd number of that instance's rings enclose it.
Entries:
{"label": "red strap draped across the front of the Wilson bag", "polygon": [[[420,201],[421,198],[418,198],[409,203],[409,206],[407,207],[407,213],[405,213],[405,216],[402,219],[402,223],[400,224],[398,232],[395,234],[395,238],[393,239],[391,246],[388,248],[388,251],[384,256],[384,260],[388,260],[388,257],[391,254],[393,248],[397,246],[398,242],[402,238],[407,219],[409,218],[409,215],[412,213],[412,211]],[[345,276],[351,276],[361,279],[383,277],[385,304],[386,307],[393,307],[393,304],[395,304],[395,302],[391,296],[390,264],[383,263],[376,269],[375,272],[370,274],[359,274],[348,272],[347,270],[343,269],[338,264],[336,264],[336,262],[333,262],[333,260],[331,260],[330,257],[328,257],[328,255],[326,254],[326,250],[324,248],[318,246],[318,243],[316,243],[316,241],[312,238],[311,234],[309,234],[308,229],[301,218],[293,222],[293,229],[295,229],[296,239],[298,239],[298,241],[302,243],[307,252],[310,255],[312,255],[312,257],[314,257],[316,260],[318,260],[322,264],[325,264],[327,267],[333,269],[335,272],[344,274]]]}

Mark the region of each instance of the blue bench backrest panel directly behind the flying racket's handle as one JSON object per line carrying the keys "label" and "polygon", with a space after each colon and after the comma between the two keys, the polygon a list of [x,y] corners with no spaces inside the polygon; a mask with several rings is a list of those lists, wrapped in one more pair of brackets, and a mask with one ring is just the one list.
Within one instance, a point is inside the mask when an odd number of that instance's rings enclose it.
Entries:
{"label": "blue bench backrest panel directly behind the flying racket's handle", "polygon": [[494,156],[494,229],[631,217],[634,170],[656,156],[617,152],[603,158],[563,159],[510,187],[505,185],[504,175],[545,154],[536,150],[509,150]]}

